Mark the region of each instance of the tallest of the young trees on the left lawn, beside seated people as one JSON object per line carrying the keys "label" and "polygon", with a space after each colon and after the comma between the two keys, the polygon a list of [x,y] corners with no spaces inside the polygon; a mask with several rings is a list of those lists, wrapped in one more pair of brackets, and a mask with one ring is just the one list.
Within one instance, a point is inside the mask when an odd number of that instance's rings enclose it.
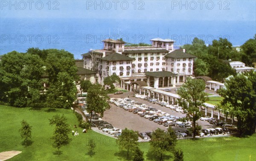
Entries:
{"label": "tallest of the young trees on the left lawn, beside seated people", "polygon": [[52,136],[52,146],[58,149],[58,155],[60,155],[60,148],[67,145],[70,141],[68,133],[70,133],[71,129],[67,124],[67,118],[64,115],[54,115],[49,121],[50,125],[55,124],[54,135]]}

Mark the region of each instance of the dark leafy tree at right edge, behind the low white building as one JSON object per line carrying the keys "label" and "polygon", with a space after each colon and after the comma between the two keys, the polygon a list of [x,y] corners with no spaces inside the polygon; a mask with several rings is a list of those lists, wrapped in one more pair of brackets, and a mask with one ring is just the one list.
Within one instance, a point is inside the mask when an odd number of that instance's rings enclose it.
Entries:
{"label": "dark leafy tree at right edge, behind the low white building", "polygon": [[256,34],[253,39],[249,39],[241,45],[241,48],[242,53],[244,53],[242,55],[242,62],[251,66],[253,62],[256,62]]}

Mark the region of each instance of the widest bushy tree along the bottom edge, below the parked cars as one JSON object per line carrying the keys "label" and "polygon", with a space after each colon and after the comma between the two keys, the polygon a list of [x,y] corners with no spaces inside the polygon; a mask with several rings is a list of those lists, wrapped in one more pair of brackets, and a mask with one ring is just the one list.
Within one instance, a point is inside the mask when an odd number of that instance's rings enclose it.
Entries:
{"label": "widest bushy tree along the bottom edge, below the parked cars", "polygon": [[177,137],[172,130],[168,129],[168,132],[157,128],[153,131],[150,143],[150,153],[153,153],[158,157],[158,160],[163,161],[163,154],[168,151],[172,151],[175,148]]}

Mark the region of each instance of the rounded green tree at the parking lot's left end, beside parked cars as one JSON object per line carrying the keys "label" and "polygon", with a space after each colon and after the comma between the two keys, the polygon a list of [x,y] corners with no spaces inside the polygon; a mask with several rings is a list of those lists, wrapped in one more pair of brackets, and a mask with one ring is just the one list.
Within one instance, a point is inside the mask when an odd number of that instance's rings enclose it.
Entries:
{"label": "rounded green tree at the parking lot's left end, beside parked cars", "polygon": [[107,100],[109,99],[107,95],[107,91],[102,88],[99,84],[93,84],[90,86],[90,88],[87,90],[87,111],[91,114],[91,118],[93,115],[93,112],[99,113],[101,116],[103,116],[105,110],[108,110],[110,108],[110,105],[108,104]]}

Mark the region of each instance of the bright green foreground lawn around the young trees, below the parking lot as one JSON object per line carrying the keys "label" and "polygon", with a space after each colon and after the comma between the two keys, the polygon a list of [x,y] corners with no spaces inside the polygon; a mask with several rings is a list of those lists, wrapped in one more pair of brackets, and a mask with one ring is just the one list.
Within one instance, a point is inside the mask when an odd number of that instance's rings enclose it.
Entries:
{"label": "bright green foreground lawn around the young trees, below the parking lot", "polygon": [[[70,131],[72,141],[67,146],[61,147],[62,154],[55,155],[55,148],[51,146],[50,137],[53,126],[49,125],[49,119],[56,113],[64,114],[68,118],[68,124],[73,128],[78,124],[72,110],[57,109],[55,112],[47,110],[30,110],[29,108],[0,107],[0,152],[8,150],[20,150],[23,153],[13,157],[10,161],[119,161],[125,160],[125,155],[119,152],[116,139],[101,135],[92,130],[74,137]],[[25,119],[32,126],[33,144],[23,147],[20,142],[20,121]],[[96,141],[96,154],[91,158],[87,153],[87,141],[93,138]],[[185,161],[232,161],[232,160],[256,160],[256,135],[248,138],[220,137],[203,138],[196,141],[179,140],[177,147],[184,152]],[[144,151],[145,160],[149,160],[149,143],[140,143],[140,149]],[[172,158],[169,158],[172,160]]]}

